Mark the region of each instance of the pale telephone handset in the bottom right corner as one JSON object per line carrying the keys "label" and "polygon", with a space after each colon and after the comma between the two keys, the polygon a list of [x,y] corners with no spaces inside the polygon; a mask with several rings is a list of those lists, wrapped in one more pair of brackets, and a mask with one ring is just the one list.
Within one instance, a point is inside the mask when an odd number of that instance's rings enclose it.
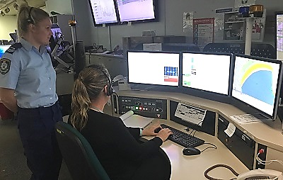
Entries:
{"label": "pale telephone handset in the bottom right corner", "polygon": [[271,169],[255,169],[246,173],[240,174],[237,180],[249,180],[249,179],[274,179],[283,180],[283,174],[280,171]]}

